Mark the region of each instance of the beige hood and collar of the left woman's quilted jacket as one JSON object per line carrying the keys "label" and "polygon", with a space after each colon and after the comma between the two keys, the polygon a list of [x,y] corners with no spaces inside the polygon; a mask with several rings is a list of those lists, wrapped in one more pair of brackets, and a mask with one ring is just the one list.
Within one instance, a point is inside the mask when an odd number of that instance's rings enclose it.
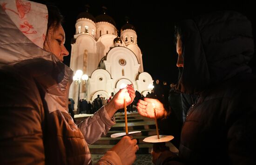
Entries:
{"label": "beige hood and collar of the left woman's quilted jacket", "polygon": [[61,110],[67,113],[67,97],[73,71],[53,53],[43,50],[27,38],[2,7],[0,34],[0,68],[12,65],[17,71],[33,76],[46,91],[44,100],[56,101],[47,105],[49,112]]}

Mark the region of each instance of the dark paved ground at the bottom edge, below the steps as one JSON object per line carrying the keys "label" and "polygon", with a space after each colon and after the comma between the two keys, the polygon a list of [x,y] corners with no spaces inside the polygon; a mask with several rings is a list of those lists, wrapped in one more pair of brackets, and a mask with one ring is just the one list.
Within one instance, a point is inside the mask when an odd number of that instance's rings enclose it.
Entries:
{"label": "dark paved ground at the bottom edge, below the steps", "polygon": [[[103,154],[92,154],[92,161],[93,165],[101,159]],[[137,154],[136,160],[133,165],[154,165],[151,161],[151,155],[150,154]]]}

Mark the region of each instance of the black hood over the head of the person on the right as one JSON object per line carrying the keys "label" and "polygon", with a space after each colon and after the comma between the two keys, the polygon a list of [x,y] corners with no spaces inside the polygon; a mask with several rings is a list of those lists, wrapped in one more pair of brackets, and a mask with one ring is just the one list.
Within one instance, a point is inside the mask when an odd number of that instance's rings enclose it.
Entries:
{"label": "black hood over the head of the person on the right", "polygon": [[250,73],[252,26],[244,15],[218,11],[181,21],[183,71],[176,89],[199,94],[240,73]]}

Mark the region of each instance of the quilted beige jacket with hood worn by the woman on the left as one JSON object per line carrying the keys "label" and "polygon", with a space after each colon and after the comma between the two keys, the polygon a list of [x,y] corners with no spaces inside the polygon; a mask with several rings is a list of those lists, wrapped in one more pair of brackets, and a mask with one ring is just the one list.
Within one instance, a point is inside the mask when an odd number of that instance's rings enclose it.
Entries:
{"label": "quilted beige jacket with hood worn by the woman on the left", "polygon": [[[91,164],[88,144],[114,121],[104,107],[77,126],[68,114],[73,71],[13,24],[0,7],[0,164]],[[121,165],[111,151],[99,164]]]}

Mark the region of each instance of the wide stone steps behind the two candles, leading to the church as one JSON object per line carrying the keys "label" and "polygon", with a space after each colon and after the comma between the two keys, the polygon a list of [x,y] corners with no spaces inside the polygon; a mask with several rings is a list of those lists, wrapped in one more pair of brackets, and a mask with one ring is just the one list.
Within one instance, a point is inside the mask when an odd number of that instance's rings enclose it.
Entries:
{"label": "wide stone steps behind the two candles, leading to the church", "polygon": [[[139,151],[136,152],[136,154],[149,154],[153,144],[144,142],[143,139],[148,136],[156,135],[155,120],[143,117],[137,112],[128,113],[127,120],[128,132],[141,131],[141,133],[131,134],[137,140],[137,144],[139,146]],[[116,113],[115,122],[116,124],[109,130],[105,137],[101,137],[93,145],[89,145],[89,149],[92,154],[104,154],[122,138],[111,138],[110,135],[113,133],[125,132],[124,113]],[[169,146],[174,152],[178,152],[172,143],[168,142],[167,146]]]}

